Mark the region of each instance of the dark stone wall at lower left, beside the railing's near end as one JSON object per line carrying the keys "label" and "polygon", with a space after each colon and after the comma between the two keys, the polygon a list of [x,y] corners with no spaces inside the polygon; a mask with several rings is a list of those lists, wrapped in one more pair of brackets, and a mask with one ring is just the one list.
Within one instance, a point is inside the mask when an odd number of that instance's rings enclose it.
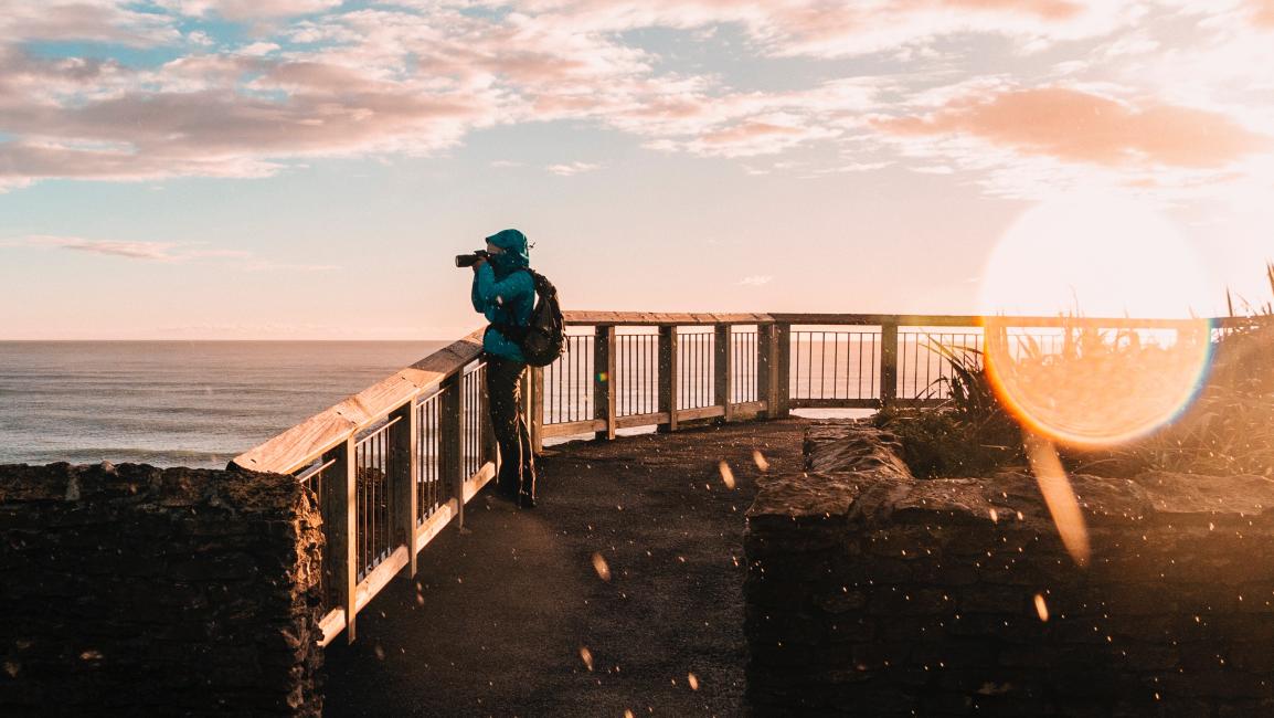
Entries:
{"label": "dark stone wall at lower left, beside the railing's near end", "polygon": [[287,476],[0,467],[0,714],[318,715],[320,523]]}

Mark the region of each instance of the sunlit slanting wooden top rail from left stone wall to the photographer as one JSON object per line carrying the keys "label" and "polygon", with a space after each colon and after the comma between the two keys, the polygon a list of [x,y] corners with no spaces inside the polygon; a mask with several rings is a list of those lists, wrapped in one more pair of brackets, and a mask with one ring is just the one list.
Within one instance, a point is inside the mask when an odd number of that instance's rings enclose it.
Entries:
{"label": "sunlit slanting wooden top rail from left stone wall to the photographer", "polygon": [[353,434],[385,418],[415,397],[433,392],[482,353],[479,329],[387,379],[348,397],[260,446],[234,457],[232,463],[252,471],[292,473]]}

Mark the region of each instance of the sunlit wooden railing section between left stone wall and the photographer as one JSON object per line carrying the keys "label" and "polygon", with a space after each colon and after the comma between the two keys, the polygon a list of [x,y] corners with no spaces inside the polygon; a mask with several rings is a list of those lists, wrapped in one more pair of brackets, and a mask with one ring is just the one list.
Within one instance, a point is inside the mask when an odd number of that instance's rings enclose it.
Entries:
{"label": "sunlit wooden railing section between left stone wall and the photographer", "polygon": [[482,332],[440,349],[232,464],[292,473],[324,519],[326,645],[355,638],[354,617],[494,476],[479,361]]}

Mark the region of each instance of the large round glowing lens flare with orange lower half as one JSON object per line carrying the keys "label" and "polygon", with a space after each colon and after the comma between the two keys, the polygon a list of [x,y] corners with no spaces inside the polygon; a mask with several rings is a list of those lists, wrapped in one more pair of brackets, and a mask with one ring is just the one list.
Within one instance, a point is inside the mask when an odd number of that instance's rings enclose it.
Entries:
{"label": "large round glowing lens flare with orange lower half", "polygon": [[[1071,196],[1024,213],[982,286],[985,358],[1000,399],[1066,444],[1116,444],[1171,421],[1210,356],[1208,321],[1191,319],[1210,305],[1198,267],[1171,222],[1129,200]],[[1061,319],[1022,328],[1005,315]]]}

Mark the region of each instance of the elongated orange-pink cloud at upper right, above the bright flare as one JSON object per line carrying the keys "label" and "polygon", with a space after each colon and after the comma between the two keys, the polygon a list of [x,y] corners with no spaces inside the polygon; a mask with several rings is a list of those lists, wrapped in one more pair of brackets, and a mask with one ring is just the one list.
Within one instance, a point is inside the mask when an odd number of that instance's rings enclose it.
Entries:
{"label": "elongated orange-pink cloud at upper right, above the bright flare", "polygon": [[1066,162],[1210,168],[1270,147],[1224,115],[1148,102],[1140,107],[1065,88],[961,98],[927,116],[880,120],[901,136],[968,135]]}

